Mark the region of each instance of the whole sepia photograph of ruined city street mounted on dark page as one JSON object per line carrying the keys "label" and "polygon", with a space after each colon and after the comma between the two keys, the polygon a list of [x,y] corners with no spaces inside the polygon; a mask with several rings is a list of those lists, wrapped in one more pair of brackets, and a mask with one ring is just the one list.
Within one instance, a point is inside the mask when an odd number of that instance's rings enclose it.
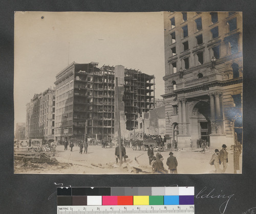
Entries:
{"label": "whole sepia photograph of ruined city street mounted on dark page", "polygon": [[15,12],[14,173],[242,174],[242,12]]}

